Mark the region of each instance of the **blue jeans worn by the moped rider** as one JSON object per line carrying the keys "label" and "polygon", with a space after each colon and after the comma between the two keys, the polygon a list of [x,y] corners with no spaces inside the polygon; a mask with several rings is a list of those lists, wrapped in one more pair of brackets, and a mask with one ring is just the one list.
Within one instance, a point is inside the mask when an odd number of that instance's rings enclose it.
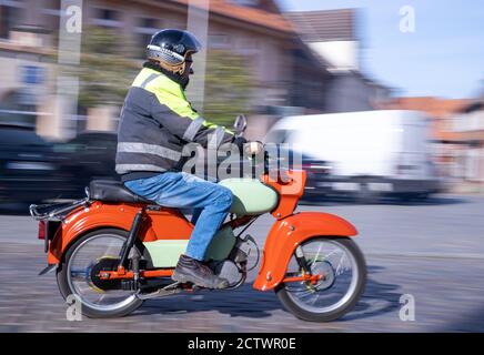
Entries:
{"label": "blue jeans worn by the moped rider", "polygon": [[185,254],[203,261],[206,248],[219,231],[232,205],[232,192],[219,184],[185,172],[127,181],[124,185],[135,194],[167,207],[195,210],[195,223]]}

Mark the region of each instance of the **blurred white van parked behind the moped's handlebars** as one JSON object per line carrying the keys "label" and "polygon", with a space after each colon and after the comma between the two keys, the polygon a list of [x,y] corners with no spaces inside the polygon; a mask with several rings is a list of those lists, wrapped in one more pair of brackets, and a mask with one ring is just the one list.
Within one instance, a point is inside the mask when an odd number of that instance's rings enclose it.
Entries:
{"label": "blurred white van parked behind the moped's handlebars", "polygon": [[428,123],[422,113],[402,110],[286,116],[265,142],[289,143],[329,162],[332,173],[310,182],[312,192],[426,197],[441,190]]}

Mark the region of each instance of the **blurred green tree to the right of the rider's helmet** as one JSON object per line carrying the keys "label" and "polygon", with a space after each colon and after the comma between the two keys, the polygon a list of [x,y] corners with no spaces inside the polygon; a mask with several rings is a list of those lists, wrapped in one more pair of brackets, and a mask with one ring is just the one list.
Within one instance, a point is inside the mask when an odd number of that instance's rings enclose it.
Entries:
{"label": "blurred green tree to the right of the rider's helmet", "polygon": [[208,51],[203,114],[211,122],[231,126],[238,114],[250,113],[254,87],[245,57]]}

